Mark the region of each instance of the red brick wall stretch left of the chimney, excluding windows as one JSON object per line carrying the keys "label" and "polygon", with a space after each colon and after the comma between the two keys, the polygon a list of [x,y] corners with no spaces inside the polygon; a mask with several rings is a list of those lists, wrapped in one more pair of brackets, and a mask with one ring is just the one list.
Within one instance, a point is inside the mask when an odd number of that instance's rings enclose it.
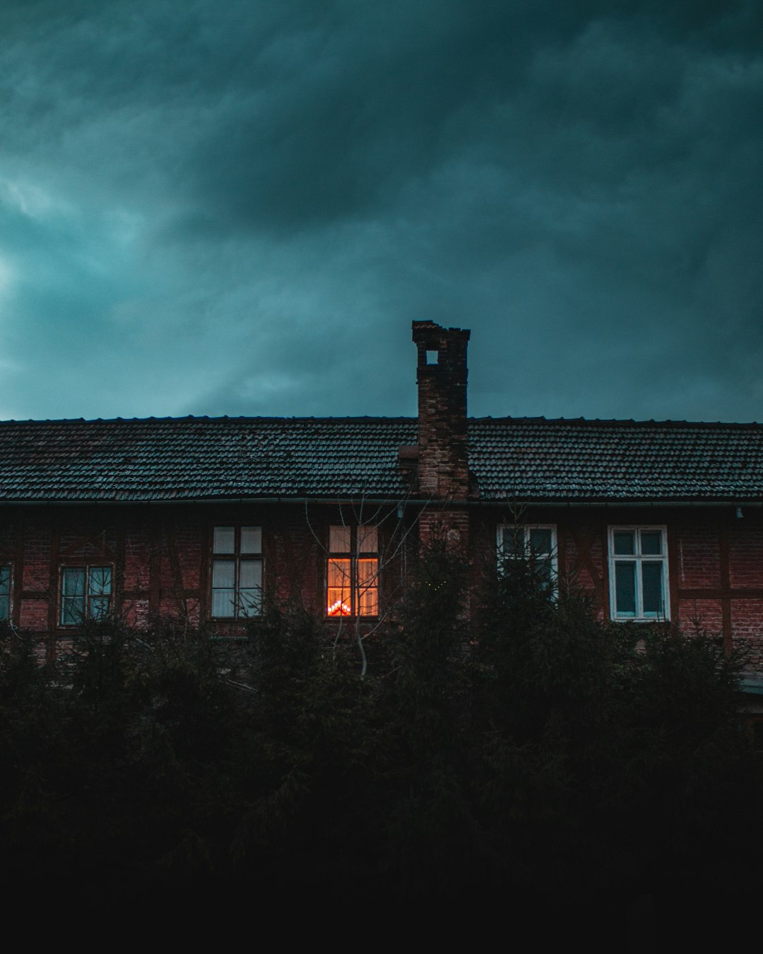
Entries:
{"label": "red brick wall stretch left of the chimney, excluding windows", "polygon": [[[176,506],[28,508],[0,512],[0,563],[13,570],[12,622],[63,645],[72,627],[60,625],[61,568],[113,569],[113,607],[130,625],[153,614],[210,618],[212,540],[215,527],[262,528],[263,589],[280,603],[324,609],[328,527],[382,523],[385,563],[382,600],[398,599],[414,534],[395,508]],[[218,621],[221,633],[238,633],[239,621]]]}

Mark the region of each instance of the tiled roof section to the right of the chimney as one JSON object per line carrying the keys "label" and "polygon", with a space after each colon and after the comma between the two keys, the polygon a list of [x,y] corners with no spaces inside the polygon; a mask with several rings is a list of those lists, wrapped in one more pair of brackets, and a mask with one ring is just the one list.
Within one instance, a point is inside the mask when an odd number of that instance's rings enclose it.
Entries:
{"label": "tiled roof section to the right of the chimney", "polygon": [[469,447],[485,500],[763,496],[763,425],[482,418]]}

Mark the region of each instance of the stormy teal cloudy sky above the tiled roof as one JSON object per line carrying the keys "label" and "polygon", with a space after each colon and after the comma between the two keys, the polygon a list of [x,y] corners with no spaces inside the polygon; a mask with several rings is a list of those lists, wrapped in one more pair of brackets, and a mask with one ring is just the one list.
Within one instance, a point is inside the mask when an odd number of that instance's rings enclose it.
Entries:
{"label": "stormy teal cloudy sky above the tiled roof", "polygon": [[0,418],[763,421],[763,0],[3,0]]}

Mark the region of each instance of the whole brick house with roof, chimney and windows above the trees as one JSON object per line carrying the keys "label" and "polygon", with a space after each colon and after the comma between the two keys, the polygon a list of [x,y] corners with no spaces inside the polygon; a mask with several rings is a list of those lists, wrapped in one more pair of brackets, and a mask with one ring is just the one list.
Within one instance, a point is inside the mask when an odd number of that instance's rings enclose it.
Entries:
{"label": "whole brick house with roof, chimney and windows above the trees", "polygon": [[0,423],[0,618],[54,655],[85,617],[263,601],[372,625],[422,541],[529,547],[603,616],[670,620],[763,680],[763,425],[468,418],[469,332],[413,323],[418,418]]}

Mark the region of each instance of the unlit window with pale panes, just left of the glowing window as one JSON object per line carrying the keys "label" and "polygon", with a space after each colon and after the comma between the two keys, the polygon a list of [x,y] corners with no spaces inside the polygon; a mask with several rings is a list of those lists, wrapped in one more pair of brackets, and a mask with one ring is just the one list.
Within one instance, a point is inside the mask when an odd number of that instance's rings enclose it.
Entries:
{"label": "unlit window with pale panes, just left of the glowing window", "polygon": [[216,527],[212,550],[212,615],[257,616],[262,609],[262,529]]}

